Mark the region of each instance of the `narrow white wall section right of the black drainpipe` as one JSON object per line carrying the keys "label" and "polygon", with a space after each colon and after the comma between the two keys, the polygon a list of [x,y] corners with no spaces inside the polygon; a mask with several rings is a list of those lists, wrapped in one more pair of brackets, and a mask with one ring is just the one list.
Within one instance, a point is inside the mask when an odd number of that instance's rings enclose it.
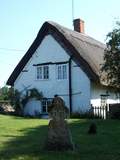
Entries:
{"label": "narrow white wall section right of the black drainpipe", "polygon": [[72,61],[73,111],[86,111],[90,108],[90,80]]}

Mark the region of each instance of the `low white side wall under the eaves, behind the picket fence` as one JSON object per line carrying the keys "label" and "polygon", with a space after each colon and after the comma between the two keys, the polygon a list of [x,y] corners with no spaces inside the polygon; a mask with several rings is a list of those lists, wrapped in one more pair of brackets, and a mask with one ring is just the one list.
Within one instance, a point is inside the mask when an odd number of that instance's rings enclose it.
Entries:
{"label": "low white side wall under the eaves, behind the picket fence", "polygon": [[101,105],[101,94],[106,94],[108,91],[108,100],[107,104],[118,103],[119,100],[116,98],[115,91],[112,89],[108,89],[107,87],[103,87],[97,84],[91,84],[91,104],[93,106],[100,106]]}

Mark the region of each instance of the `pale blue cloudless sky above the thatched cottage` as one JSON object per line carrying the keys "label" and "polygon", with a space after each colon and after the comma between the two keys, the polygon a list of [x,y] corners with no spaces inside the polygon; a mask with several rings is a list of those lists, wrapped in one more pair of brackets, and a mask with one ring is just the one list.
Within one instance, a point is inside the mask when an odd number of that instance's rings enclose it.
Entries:
{"label": "pale blue cloudless sky above the thatched cottage", "polygon": [[120,20],[120,0],[0,0],[0,87],[29,49],[45,21],[73,29],[72,19],[85,21],[85,34],[105,43]]}

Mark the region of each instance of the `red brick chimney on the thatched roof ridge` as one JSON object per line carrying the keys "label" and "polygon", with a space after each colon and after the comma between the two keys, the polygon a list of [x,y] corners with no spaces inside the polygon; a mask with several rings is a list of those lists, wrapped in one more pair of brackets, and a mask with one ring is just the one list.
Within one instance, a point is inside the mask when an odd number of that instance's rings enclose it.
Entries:
{"label": "red brick chimney on the thatched roof ridge", "polygon": [[81,19],[74,19],[73,21],[74,31],[84,33],[84,21]]}

